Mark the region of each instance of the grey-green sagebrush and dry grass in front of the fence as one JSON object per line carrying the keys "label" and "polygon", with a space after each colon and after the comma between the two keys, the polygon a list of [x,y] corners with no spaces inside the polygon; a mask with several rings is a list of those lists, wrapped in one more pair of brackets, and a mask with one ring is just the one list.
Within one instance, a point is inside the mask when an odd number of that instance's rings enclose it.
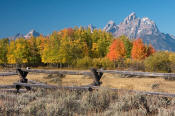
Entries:
{"label": "grey-green sagebrush and dry grass in front of the fence", "polygon": [[3,116],[174,116],[175,98],[124,90],[1,93]]}

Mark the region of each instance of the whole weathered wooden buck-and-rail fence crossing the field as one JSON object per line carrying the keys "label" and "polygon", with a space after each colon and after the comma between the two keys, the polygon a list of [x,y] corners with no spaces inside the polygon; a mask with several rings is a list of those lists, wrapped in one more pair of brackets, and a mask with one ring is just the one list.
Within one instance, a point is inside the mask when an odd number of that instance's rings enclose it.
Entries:
{"label": "whole weathered wooden buck-and-rail fence crossing the field", "polygon": [[[46,73],[46,74],[63,74],[63,75],[86,75],[93,78],[93,83],[86,86],[54,86],[48,85],[44,83],[39,83],[36,81],[28,80],[27,75],[30,72],[34,73]],[[11,76],[11,75],[19,75],[20,81],[13,83],[13,85],[0,85],[0,88],[9,89],[16,88],[17,92],[19,92],[21,87],[25,87],[27,90],[31,90],[32,87],[40,87],[47,89],[69,89],[69,90],[88,90],[92,91],[94,89],[98,89],[98,87],[102,84],[100,81],[103,73],[111,73],[111,74],[122,74],[122,75],[130,75],[130,76],[146,76],[146,77],[163,77],[163,78],[175,78],[175,73],[152,73],[152,72],[136,72],[136,71],[118,71],[118,70],[103,70],[103,69],[95,69],[92,68],[90,71],[80,71],[80,70],[42,70],[42,69],[16,69],[16,72],[6,72],[0,73],[0,76]],[[118,90],[114,88],[109,88],[110,90]],[[175,97],[175,94],[161,93],[161,92],[141,92],[134,91],[143,94],[151,94],[151,95],[163,95],[163,96],[171,96]]]}

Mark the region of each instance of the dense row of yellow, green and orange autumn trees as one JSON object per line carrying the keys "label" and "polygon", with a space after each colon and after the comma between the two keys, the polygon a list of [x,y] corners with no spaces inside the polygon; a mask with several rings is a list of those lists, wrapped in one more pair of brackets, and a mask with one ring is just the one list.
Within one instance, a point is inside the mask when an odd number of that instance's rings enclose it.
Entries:
{"label": "dense row of yellow, green and orange autumn trees", "polygon": [[[114,38],[111,33],[90,28],[74,27],[54,31],[49,36],[0,40],[0,64],[57,67],[128,68],[143,65],[156,53],[142,39],[126,36]],[[171,58],[172,59],[172,58]]]}

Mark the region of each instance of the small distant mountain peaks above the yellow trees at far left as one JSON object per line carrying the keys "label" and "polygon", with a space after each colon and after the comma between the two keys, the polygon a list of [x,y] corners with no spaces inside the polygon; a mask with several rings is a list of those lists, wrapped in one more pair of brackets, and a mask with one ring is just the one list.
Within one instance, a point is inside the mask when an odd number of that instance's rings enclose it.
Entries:
{"label": "small distant mountain peaks above the yellow trees at far left", "polygon": [[33,37],[38,37],[38,36],[40,36],[40,33],[36,32],[35,30],[31,30],[26,35],[23,35],[21,33],[17,33],[15,36],[9,37],[9,40],[16,40],[17,38],[26,38],[26,39],[28,39],[32,36]]}

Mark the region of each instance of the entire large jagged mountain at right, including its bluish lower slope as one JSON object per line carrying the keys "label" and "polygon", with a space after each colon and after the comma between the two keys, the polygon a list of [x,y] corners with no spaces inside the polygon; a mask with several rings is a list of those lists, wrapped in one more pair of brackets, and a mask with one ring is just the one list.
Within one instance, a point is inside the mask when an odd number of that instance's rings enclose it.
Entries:
{"label": "entire large jagged mountain at right, including its bluish lower slope", "polygon": [[142,38],[144,43],[152,44],[156,50],[175,51],[173,35],[161,33],[154,21],[148,17],[138,18],[135,13],[127,16],[119,25],[109,21],[103,30],[115,37],[126,35],[130,39]]}

